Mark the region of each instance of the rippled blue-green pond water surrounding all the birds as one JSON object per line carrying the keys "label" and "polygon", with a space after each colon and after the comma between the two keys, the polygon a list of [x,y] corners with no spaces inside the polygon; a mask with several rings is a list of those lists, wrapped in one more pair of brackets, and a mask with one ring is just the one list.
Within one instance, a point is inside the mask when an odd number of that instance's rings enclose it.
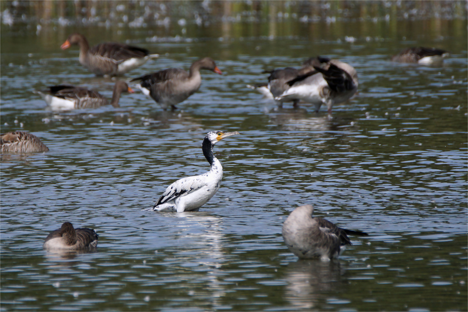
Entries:
{"label": "rippled blue-green pond water surrounding all the birds", "polygon": [[[1,131],[50,152],[1,156],[1,311],[466,311],[466,1],[0,1]],[[164,112],[51,111],[32,91],[59,83],[110,98],[114,80],[60,50],[73,32],[160,58],[130,80],[214,58],[200,90]],[[444,65],[396,64],[403,48],[447,50]],[[249,90],[266,69],[338,58],[358,94],[283,109]],[[22,125],[22,127],[21,127]],[[166,186],[208,170],[219,192],[199,212],[155,213]],[[370,234],[330,263],[298,261],[281,226],[298,205]],[[96,252],[42,250],[62,222],[91,227]]]}

